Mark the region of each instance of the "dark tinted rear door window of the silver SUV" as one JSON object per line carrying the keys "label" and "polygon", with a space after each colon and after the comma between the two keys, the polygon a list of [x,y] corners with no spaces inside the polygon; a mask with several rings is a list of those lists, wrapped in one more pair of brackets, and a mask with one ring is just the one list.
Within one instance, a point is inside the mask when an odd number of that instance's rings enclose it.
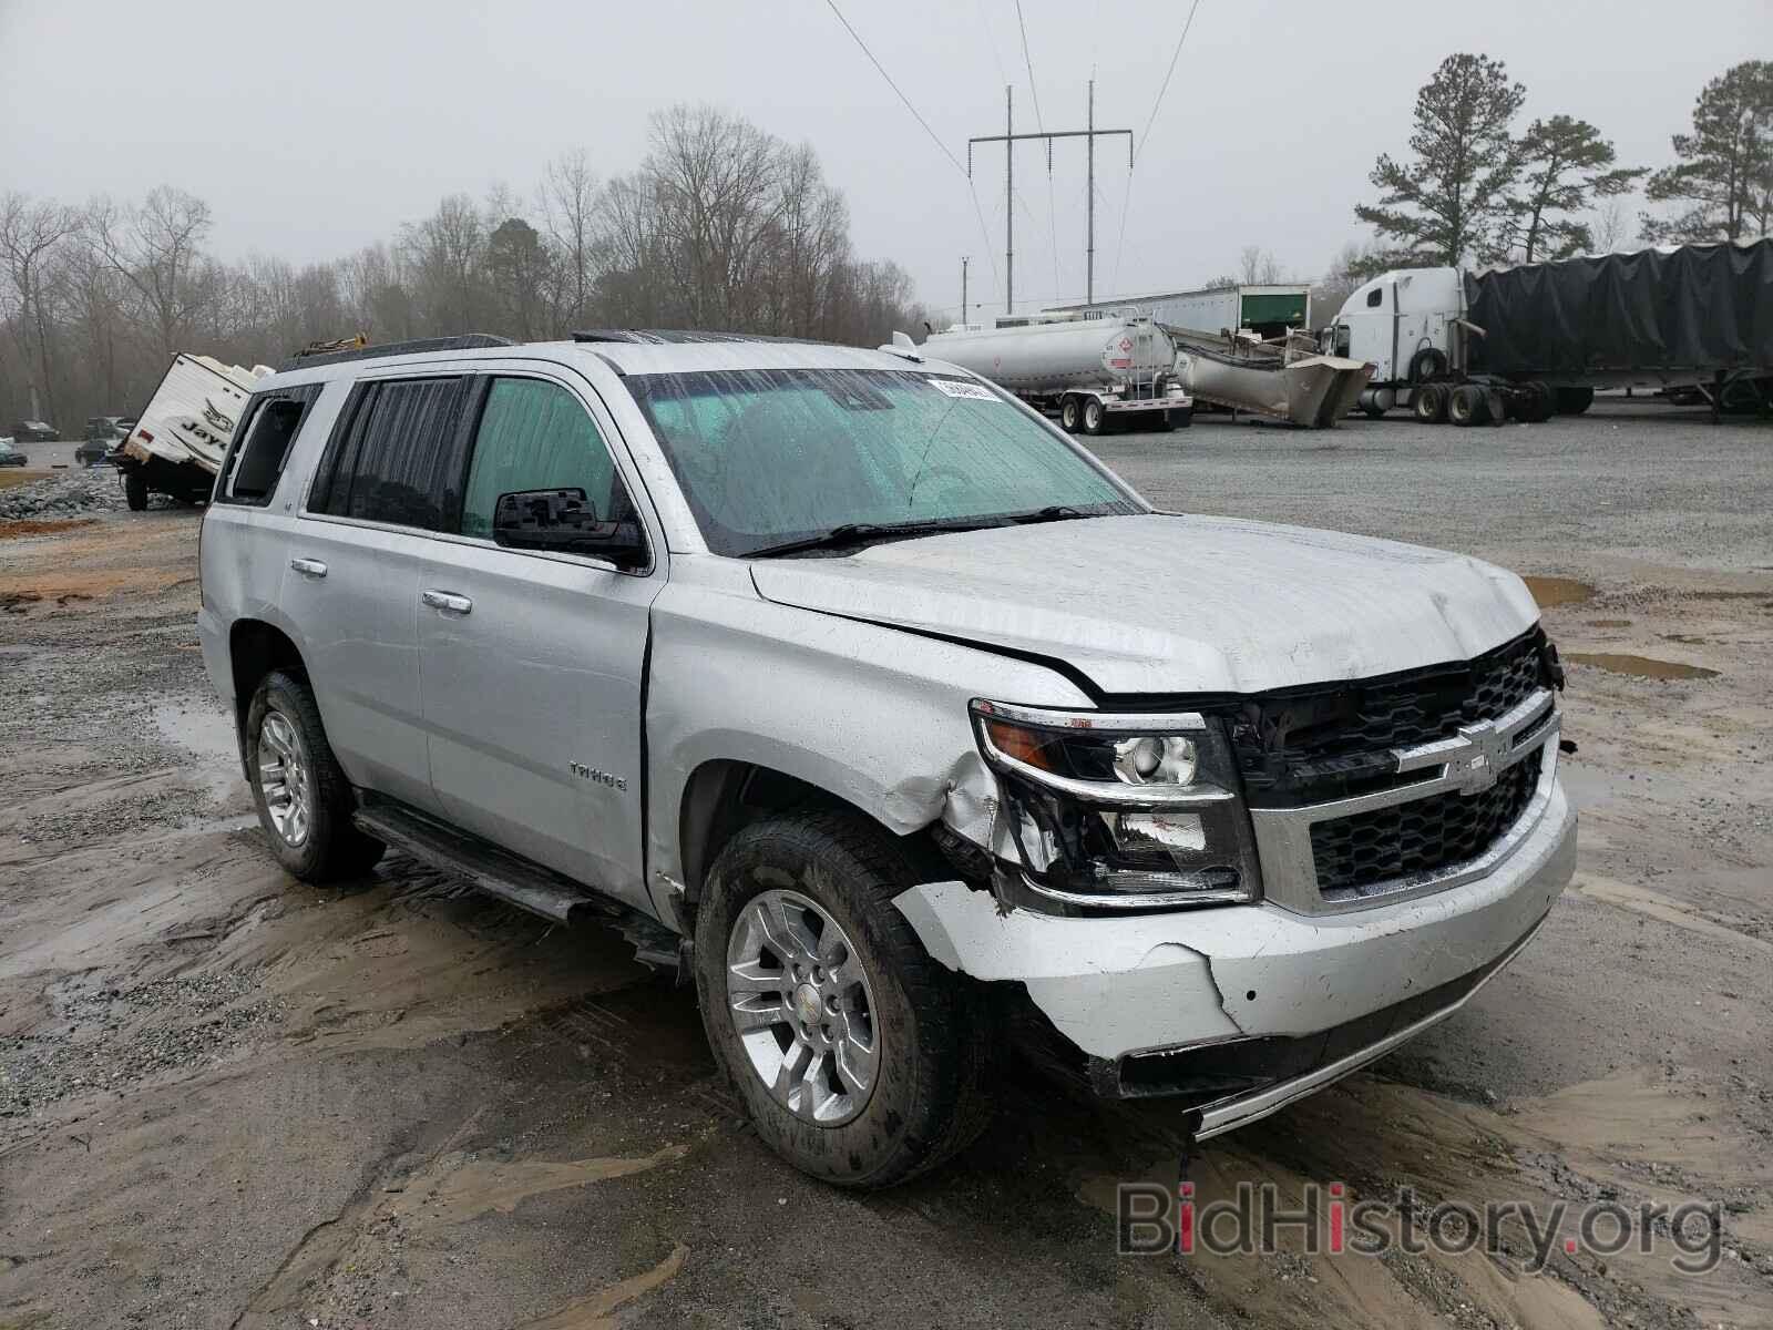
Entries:
{"label": "dark tinted rear door window of the silver SUV", "polygon": [[441,530],[461,475],[463,378],[360,383],[314,477],[310,512]]}

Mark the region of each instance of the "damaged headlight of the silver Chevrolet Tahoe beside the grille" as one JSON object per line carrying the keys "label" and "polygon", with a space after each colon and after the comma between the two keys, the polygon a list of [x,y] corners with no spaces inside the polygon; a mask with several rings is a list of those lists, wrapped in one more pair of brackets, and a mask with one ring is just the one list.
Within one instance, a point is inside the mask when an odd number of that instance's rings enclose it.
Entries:
{"label": "damaged headlight of the silver Chevrolet Tahoe beside the grille", "polygon": [[1119,910],[1261,896],[1250,816],[1218,720],[988,700],[972,711],[1037,896]]}

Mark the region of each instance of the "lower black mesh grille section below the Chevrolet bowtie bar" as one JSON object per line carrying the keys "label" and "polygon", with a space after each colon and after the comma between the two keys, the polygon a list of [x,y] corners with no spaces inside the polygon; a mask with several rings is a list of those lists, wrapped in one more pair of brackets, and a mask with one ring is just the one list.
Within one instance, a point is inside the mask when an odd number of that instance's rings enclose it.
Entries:
{"label": "lower black mesh grille section below the Chevrolet bowtie bar", "polygon": [[1523,757],[1482,794],[1431,794],[1388,809],[1312,825],[1317,892],[1358,894],[1362,887],[1464,864],[1482,855],[1527,810],[1539,784],[1544,748]]}

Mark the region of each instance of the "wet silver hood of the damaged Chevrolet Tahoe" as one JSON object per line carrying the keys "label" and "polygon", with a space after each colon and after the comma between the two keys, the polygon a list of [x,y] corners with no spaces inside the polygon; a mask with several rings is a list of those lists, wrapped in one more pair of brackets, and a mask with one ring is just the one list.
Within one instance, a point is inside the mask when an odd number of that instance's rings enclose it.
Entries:
{"label": "wet silver hood of the damaged Chevrolet Tahoe", "polygon": [[1053,656],[1105,693],[1372,677],[1468,660],[1539,619],[1518,576],[1464,555],[1167,514],[757,560],[752,578],[780,605]]}

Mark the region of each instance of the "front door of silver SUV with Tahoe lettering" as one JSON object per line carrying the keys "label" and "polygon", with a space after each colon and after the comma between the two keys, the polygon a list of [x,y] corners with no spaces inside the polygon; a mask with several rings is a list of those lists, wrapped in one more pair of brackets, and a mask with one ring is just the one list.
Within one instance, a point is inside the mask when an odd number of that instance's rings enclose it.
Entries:
{"label": "front door of silver SUV with Tahoe lettering", "polygon": [[638,573],[496,546],[500,495],[580,488],[599,514],[621,516],[635,514],[638,489],[608,415],[576,378],[488,374],[470,401],[454,532],[431,543],[418,587],[436,796],[459,826],[651,908],[640,727],[660,543]]}

